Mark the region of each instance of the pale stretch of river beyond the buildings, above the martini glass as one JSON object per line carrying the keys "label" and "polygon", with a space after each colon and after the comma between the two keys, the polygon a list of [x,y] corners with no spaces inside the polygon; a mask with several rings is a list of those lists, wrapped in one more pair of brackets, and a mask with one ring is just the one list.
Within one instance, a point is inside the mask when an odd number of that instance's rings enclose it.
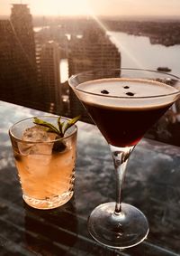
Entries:
{"label": "pale stretch of river beyond the buildings, above the martini glass", "polygon": [[168,67],[180,76],[180,45],[166,47],[162,44],[151,44],[147,36],[137,36],[121,32],[108,32],[112,43],[121,52],[121,68],[144,68],[157,70]]}

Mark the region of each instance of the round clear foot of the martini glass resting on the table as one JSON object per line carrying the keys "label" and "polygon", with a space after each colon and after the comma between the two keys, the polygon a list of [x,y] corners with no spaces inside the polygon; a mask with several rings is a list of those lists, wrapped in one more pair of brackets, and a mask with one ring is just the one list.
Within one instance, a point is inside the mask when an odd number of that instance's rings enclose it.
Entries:
{"label": "round clear foot of the martini glass resting on the table", "polygon": [[94,240],[116,249],[125,249],[142,242],[148,235],[148,221],[130,204],[121,204],[122,212],[114,213],[115,203],[97,206],[88,219],[88,231]]}

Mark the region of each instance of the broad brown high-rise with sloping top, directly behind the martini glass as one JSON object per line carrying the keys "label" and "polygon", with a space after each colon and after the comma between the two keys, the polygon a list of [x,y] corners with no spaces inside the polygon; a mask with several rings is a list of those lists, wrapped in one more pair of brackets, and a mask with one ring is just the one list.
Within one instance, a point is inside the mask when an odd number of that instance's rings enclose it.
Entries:
{"label": "broad brown high-rise with sloping top, directly behind the martini glass", "polygon": [[[68,56],[69,76],[82,71],[100,68],[108,70],[120,66],[121,53],[98,25],[94,24],[93,27],[86,29],[82,36],[71,36]],[[69,92],[69,100],[72,116],[81,114],[83,120],[91,122],[73,90]]]}

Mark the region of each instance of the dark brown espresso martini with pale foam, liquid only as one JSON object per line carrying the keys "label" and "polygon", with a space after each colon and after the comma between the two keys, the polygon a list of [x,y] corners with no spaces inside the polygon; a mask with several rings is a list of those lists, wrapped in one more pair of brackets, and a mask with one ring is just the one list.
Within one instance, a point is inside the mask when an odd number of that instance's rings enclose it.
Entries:
{"label": "dark brown espresso martini with pale foam, liquid only", "polygon": [[136,145],[173,104],[176,92],[162,82],[121,78],[87,81],[76,87],[103,137],[116,147]]}

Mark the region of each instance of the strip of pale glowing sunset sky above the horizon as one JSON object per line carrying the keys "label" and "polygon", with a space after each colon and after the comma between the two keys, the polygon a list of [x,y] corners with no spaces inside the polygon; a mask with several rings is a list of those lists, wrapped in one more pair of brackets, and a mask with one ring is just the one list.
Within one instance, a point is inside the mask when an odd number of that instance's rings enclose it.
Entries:
{"label": "strip of pale glowing sunset sky above the horizon", "polygon": [[180,0],[0,0],[0,15],[11,4],[28,4],[33,15],[157,15],[180,18]]}

